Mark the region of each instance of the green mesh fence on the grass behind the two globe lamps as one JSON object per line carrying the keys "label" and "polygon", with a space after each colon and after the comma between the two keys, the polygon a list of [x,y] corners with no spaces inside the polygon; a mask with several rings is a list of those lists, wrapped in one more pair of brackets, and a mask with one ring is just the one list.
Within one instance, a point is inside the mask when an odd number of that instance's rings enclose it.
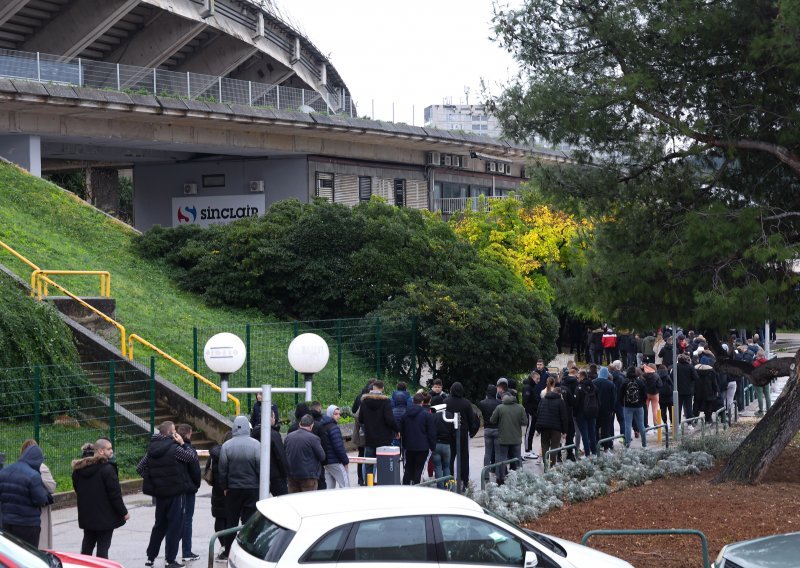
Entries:
{"label": "green mesh fence on the grass behind the two globe lamps", "polygon": [[[223,328],[194,328],[194,369],[209,379],[215,375],[205,365],[203,347],[214,334],[227,331],[238,335],[247,347],[242,369],[231,375],[231,387],[303,386],[303,379],[289,365],[287,349],[301,333],[313,332],[328,343],[330,359],[325,369],[314,376],[314,399],[323,405],[348,407],[371,377],[394,383],[405,380],[416,384],[415,318],[386,320],[353,318],[280,322],[273,324],[230,325]],[[199,394],[195,387],[195,396]],[[409,390],[413,392],[412,387]],[[242,412],[249,413],[252,395],[242,400]],[[276,398],[282,416],[299,402],[299,395]]]}

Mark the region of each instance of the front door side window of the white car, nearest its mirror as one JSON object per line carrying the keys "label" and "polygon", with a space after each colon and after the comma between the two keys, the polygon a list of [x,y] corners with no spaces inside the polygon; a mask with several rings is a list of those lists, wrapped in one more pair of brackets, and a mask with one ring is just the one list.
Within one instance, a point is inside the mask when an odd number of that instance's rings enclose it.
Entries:
{"label": "front door side window of the white car, nearest its mirror", "polygon": [[442,515],[437,519],[447,562],[522,566],[525,547],[497,525],[470,517]]}

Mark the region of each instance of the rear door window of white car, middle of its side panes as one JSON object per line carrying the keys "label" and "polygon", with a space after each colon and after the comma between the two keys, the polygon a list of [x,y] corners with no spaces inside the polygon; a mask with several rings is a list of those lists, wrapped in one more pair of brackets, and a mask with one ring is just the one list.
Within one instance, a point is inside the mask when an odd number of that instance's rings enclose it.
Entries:
{"label": "rear door window of white car, middle of its side panes", "polygon": [[355,562],[425,562],[428,558],[425,517],[396,517],[359,523],[353,537]]}

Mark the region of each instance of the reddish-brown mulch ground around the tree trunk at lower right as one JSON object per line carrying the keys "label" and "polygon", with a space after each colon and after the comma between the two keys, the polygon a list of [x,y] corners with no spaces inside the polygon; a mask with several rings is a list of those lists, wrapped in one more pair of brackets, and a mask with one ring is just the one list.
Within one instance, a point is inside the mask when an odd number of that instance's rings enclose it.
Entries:
{"label": "reddish-brown mulch ground around the tree trunk at lower right", "polygon": [[[800,531],[800,447],[787,447],[759,485],[715,485],[721,467],[566,505],[526,526],[575,542],[593,529],[696,529],[708,538],[712,562],[728,543]],[[637,567],[703,565],[693,535],[594,536],[588,544]]]}

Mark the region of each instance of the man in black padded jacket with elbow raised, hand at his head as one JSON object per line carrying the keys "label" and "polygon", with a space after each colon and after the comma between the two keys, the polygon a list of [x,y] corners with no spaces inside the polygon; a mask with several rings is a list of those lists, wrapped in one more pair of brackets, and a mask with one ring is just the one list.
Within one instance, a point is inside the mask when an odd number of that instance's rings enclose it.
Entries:
{"label": "man in black padded jacket with elbow raised, hand at his head", "polygon": [[183,447],[183,438],[175,431],[175,424],[167,420],[158,427],[147,454],[136,466],[144,480],[142,493],[152,495],[156,501],[156,522],[150,532],[145,566],[155,564],[165,538],[165,568],[182,566],[176,557],[183,531],[183,501],[191,483],[186,464],[196,459],[197,454]]}

